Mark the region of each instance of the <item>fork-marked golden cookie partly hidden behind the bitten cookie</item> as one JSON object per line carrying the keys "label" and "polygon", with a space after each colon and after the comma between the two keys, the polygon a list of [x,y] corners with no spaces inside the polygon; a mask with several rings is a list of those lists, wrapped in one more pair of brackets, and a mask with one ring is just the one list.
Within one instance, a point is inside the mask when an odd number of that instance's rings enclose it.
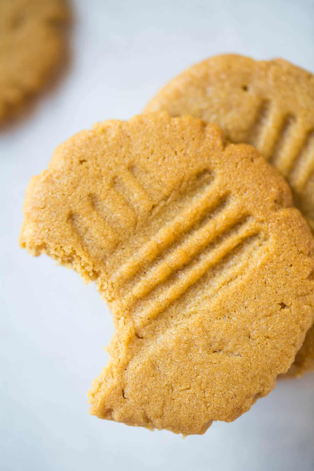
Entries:
{"label": "fork-marked golden cookie partly hidden behind the bitten cookie", "polygon": [[[314,231],[313,74],[282,59],[211,57],[170,81],[145,108],[160,110],[215,122],[232,142],[257,147],[288,180]],[[307,352],[307,369],[314,369],[313,342],[314,327],[299,357]]]}

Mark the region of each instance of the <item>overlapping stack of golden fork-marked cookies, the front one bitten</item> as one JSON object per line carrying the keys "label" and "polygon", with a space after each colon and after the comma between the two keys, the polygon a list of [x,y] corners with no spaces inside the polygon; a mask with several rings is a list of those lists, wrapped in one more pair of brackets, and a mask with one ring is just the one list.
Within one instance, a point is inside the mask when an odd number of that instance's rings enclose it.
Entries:
{"label": "overlapping stack of golden fork-marked cookies, the front one bitten", "polygon": [[313,84],[215,57],[33,177],[22,247],[95,281],[113,313],[92,414],[203,433],[314,366]]}

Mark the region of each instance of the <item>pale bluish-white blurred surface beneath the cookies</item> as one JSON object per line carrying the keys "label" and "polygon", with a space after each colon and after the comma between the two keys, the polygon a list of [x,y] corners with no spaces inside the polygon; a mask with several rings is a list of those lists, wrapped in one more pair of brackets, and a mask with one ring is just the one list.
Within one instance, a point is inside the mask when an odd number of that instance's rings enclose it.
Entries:
{"label": "pale bluish-white blurred surface beneath the cookies", "polygon": [[108,118],[137,114],[185,67],[221,52],[284,57],[314,71],[314,2],[73,2],[72,64],[0,134],[3,471],[314,470],[314,375],[280,382],[237,421],[183,440],[101,421],[86,392],[111,316],[93,285],[17,245],[25,187],[53,149]]}

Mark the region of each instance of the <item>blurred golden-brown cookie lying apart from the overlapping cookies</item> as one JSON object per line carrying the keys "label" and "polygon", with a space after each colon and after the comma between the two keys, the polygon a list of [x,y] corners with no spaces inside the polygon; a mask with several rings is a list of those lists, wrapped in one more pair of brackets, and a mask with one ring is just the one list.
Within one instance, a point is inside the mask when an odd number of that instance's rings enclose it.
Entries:
{"label": "blurred golden-brown cookie lying apart from the overlapping cookies", "polygon": [[0,1],[0,121],[36,92],[64,49],[64,0]]}

